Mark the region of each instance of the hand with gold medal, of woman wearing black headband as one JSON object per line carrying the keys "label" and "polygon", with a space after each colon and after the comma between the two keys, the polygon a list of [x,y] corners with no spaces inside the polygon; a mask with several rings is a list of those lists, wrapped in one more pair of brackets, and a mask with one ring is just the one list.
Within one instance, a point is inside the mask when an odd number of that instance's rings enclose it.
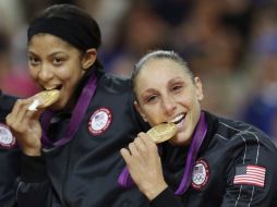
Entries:
{"label": "hand with gold medal, of woman wearing black headband", "polygon": [[27,99],[20,99],[10,114],[7,124],[12,130],[24,154],[39,156],[41,149],[41,126],[39,117],[43,110],[59,100],[58,89],[44,90]]}

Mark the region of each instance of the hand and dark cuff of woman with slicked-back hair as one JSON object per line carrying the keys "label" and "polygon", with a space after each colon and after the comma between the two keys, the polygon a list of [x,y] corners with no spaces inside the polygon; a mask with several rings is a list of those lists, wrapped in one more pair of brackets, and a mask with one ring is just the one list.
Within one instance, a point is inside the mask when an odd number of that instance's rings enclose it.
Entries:
{"label": "hand and dark cuff of woman with slicked-back hair", "polygon": [[[154,207],[169,204],[182,207],[181,202],[165,182],[156,144],[145,133],[140,133],[129,149],[120,150],[130,174]],[[166,205],[167,206],[167,205]]]}

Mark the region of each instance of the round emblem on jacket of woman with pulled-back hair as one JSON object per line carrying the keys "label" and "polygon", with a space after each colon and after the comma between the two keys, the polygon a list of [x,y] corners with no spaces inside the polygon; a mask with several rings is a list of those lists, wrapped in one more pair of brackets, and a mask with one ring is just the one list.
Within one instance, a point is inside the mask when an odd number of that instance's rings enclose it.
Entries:
{"label": "round emblem on jacket of woman with pulled-back hair", "polygon": [[204,160],[197,160],[192,172],[192,186],[195,190],[203,188],[209,178],[209,168],[208,163]]}

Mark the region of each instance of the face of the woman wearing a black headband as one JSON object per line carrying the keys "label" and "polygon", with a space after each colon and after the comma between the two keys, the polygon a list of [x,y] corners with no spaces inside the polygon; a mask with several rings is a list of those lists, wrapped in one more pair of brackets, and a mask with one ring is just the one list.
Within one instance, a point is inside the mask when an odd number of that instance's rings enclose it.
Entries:
{"label": "face of the woman wearing a black headband", "polygon": [[67,41],[50,34],[34,35],[28,44],[31,76],[43,89],[60,90],[53,109],[68,107],[76,84],[84,75],[81,52]]}

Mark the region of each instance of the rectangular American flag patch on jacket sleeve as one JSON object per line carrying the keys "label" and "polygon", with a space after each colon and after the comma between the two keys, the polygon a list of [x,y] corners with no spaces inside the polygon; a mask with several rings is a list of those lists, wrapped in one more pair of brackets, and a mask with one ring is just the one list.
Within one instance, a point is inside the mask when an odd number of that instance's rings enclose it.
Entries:
{"label": "rectangular American flag patch on jacket sleeve", "polygon": [[266,169],[261,166],[240,166],[236,168],[233,184],[264,187]]}

